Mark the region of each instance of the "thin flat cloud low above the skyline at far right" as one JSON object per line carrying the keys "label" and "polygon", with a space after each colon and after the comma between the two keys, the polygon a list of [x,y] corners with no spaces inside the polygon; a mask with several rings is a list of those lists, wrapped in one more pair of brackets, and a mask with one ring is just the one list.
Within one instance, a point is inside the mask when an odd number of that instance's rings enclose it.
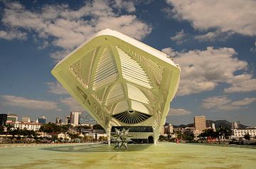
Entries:
{"label": "thin flat cloud low above the skyline at far right", "polygon": [[219,96],[219,97],[208,97],[203,100],[202,107],[204,109],[212,109],[214,111],[221,110],[221,111],[232,111],[238,109],[245,109],[247,105],[255,102],[256,98],[248,98],[233,101],[228,99],[226,96]]}

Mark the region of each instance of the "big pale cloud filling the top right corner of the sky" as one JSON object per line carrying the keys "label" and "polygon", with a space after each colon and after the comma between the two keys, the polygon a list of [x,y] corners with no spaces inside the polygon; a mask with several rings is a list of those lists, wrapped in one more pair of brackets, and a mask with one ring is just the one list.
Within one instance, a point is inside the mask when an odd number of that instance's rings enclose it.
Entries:
{"label": "big pale cloud filling the top right corner of the sky", "polygon": [[165,10],[169,16],[188,20],[193,28],[205,31],[219,28],[246,36],[256,35],[256,1],[253,0],[166,0],[174,9]]}

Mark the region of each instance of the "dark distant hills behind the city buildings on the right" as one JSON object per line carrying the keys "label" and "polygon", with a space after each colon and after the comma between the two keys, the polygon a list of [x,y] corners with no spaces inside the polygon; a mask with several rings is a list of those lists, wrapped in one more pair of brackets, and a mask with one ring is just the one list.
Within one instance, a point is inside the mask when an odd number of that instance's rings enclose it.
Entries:
{"label": "dark distant hills behind the city buildings on the right", "polygon": [[[216,121],[213,121],[213,120],[206,120],[206,127],[210,127],[212,124],[215,124],[215,128],[218,129],[220,126],[225,126],[229,129],[231,129],[231,125],[232,123],[230,121],[227,121],[227,120],[216,120]],[[178,125],[178,126],[175,126],[174,125],[174,128],[179,128],[179,127],[191,127],[191,126],[194,126],[194,124],[181,124],[181,125]],[[241,128],[246,128],[247,126],[243,125],[243,124],[240,124]]]}

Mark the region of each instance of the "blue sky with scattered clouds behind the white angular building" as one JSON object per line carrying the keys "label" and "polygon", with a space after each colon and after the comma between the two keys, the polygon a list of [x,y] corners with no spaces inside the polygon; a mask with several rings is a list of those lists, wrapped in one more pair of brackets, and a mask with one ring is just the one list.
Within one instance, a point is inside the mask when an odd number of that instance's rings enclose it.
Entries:
{"label": "blue sky with scattered clouds behind the white angular building", "polygon": [[112,28],[174,56],[181,84],[166,121],[256,126],[256,1],[1,1],[0,113],[55,121],[80,110],[50,74]]}

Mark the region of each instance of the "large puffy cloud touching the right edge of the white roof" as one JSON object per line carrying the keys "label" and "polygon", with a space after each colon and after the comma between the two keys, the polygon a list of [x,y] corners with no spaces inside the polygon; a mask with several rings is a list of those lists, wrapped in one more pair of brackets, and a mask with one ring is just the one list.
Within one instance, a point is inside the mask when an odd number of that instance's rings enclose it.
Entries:
{"label": "large puffy cloud touching the right edge of the white roof", "polygon": [[[224,89],[227,93],[256,90],[255,79],[246,72],[247,62],[235,58],[237,53],[233,48],[208,47],[188,52],[164,48],[162,51],[175,56],[174,61],[181,65],[179,96],[210,91],[220,83],[230,85]],[[242,74],[238,74],[238,70]]]}

